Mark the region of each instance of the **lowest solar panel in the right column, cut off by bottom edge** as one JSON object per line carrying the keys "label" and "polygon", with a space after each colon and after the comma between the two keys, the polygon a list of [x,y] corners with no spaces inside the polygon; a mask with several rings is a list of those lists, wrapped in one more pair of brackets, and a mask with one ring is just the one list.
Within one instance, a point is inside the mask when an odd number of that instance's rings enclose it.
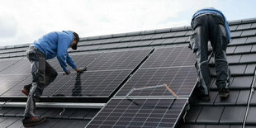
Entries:
{"label": "lowest solar panel in the right column, cut off by bottom edge", "polygon": [[174,127],[187,99],[111,99],[89,122],[98,127]]}

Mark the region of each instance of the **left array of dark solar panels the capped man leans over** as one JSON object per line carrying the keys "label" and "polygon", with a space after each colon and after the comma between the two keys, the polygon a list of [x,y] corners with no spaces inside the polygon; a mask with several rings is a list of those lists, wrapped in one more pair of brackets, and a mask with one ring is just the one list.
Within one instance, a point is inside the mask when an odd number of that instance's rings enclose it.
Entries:
{"label": "left array of dark solar panels the capped man leans over", "polygon": [[[72,55],[77,67],[87,66],[88,71],[79,75],[63,75],[57,59],[47,60],[59,75],[53,83],[45,87],[42,97],[109,97],[130,75],[151,50],[130,50],[87,55]],[[17,60],[3,69],[1,73],[26,75],[22,81],[8,84],[1,97],[24,97],[21,88],[30,84],[31,63],[26,59]],[[95,66],[97,65],[97,66]],[[30,76],[30,77],[29,77]],[[80,78],[80,79],[79,79]],[[79,79],[79,80],[78,80]]]}

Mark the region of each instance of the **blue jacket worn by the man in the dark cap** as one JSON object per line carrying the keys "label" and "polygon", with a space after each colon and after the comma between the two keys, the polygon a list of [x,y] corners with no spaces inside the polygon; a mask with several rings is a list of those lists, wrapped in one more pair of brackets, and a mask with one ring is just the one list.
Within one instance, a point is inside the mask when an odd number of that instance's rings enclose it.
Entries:
{"label": "blue jacket worn by the man in the dark cap", "polygon": [[67,64],[76,69],[73,59],[69,56],[69,45],[73,41],[73,31],[54,31],[35,40],[31,46],[45,54],[45,59],[52,59],[57,56],[59,64],[64,71],[67,71]]}

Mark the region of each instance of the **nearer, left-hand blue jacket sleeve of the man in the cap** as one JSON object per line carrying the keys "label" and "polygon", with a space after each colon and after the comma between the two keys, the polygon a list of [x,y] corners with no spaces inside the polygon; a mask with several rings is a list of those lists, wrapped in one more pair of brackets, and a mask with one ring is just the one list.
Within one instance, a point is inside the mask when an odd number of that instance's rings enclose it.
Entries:
{"label": "nearer, left-hand blue jacket sleeve of the man in the cap", "polygon": [[59,60],[59,64],[64,71],[67,71],[67,50],[69,48],[69,42],[71,40],[68,36],[64,36],[59,34],[58,40],[58,48],[57,48],[57,59]]}

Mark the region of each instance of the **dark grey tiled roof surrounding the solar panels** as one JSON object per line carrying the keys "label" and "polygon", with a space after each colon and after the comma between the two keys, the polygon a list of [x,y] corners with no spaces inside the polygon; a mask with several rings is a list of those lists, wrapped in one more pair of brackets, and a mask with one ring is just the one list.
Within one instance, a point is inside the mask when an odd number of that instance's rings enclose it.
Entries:
{"label": "dark grey tiled roof surrounding the solar panels", "polygon": [[[230,21],[229,24],[231,41],[227,48],[227,57],[231,70],[230,97],[223,100],[217,96],[215,85],[216,73],[214,61],[211,59],[211,74],[213,76],[210,92],[211,101],[201,102],[192,95],[189,100],[190,109],[186,114],[180,116],[180,122],[177,127],[210,128],[218,126],[232,128],[242,127],[243,124],[246,127],[254,127],[256,125],[256,118],[254,116],[256,114],[256,94],[253,92],[256,65],[256,18]],[[187,46],[191,34],[191,26],[181,26],[151,31],[84,37],[78,43],[78,50],[69,50],[69,52],[70,55],[95,54],[97,56],[107,52]],[[4,65],[18,64],[18,62],[25,59],[25,51],[28,45],[30,44],[0,47],[0,73],[6,74],[12,71],[12,69],[8,69],[8,66]],[[88,61],[91,62],[92,60]],[[22,62],[21,64],[24,63]],[[22,73],[27,72],[26,69],[21,71]],[[19,85],[18,83],[13,84]],[[3,88],[0,100],[4,103],[6,101],[9,102],[9,97],[6,97],[8,90],[17,87]],[[7,89],[7,91],[4,91],[4,89]],[[77,98],[79,99],[79,97]],[[12,102],[26,101],[26,97],[11,99]],[[45,97],[44,102],[55,102],[52,100],[53,97]],[[64,98],[60,98],[58,102],[61,101],[64,101]],[[21,116],[24,106],[7,107],[4,103],[2,103],[2,114],[0,113],[0,126],[21,127]],[[106,103],[106,101],[103,103]],[[64,113],[62,113],[63,116],[59,116],[63,109],[62,107],[39,107],[40,115],[48,116],[49,118],[40,127],[66,127],[69,125],[72,127],[83,127],[88,124],[88,121],[98,111],[98,109],[92,108],[66,108]]]}

